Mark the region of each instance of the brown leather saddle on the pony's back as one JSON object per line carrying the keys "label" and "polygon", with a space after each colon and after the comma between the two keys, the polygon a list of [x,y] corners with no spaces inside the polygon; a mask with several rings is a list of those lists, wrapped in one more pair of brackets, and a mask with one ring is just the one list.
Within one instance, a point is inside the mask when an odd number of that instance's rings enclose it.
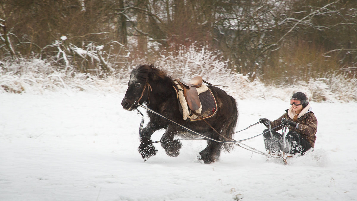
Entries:
{"label": "brown leather saddle on the pony's back", "polygon": [[193,111],[200,109],[201,102],[200,102],[200,98],[198,97],[198,92],[196,87],[197,88],[201,87],[202,77],[196,76],[188,82],[185,82],[181,79],[176,79],[176,81],[181,83],[181,86],[183,88],[183,95],[185,96],[188,107],[190,107],[190,109]]}

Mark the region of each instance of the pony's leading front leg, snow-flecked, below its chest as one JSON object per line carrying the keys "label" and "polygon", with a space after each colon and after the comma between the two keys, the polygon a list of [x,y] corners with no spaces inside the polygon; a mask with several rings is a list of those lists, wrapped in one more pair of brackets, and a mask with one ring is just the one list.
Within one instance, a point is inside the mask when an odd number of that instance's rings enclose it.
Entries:
{"label": "pony's leading front leg, snow-flecked, below its chest", "polygon": [[155,156],[157,149],[154,147],[154,143],[151,141],[151,135],[160,127],[149,124],[141,131],[140,146],[138,148],[141,157],[146,161],[151,156]]}

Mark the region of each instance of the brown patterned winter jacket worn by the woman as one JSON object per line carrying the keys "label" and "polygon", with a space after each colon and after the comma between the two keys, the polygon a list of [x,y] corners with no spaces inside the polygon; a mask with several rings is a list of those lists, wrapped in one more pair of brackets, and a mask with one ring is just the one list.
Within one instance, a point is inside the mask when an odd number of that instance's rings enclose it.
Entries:
{"label": "brown patterned winter jacket worn by the woman", "polygon": [[[286,110],[286,113],[283,114],[283,116],[281,116],[278,119],[276,119],[275,121],[271,122],[271,127],[273,128],[273,127],[279,126],[281,124],[282,118],[286,118],[286,119],[289,119],[290,121],[293,121],[293,119],[291,119],[288,116],[288,110]],[[316,134],[316,130],[317,130],[317,119],[315,117],[315,114],[311,111],[307,112],[302,117],[298,118],[296,123],[298,123],[298,128],[293,128],[290,126],[289,131],[295,131],[295,132],[301,134],[301,136],[311,144],[311,147],[314,147],[315,141],[316,141],[315,134]],[[281,128],[282,127],[278,127],[274,130],[279,131]]]}

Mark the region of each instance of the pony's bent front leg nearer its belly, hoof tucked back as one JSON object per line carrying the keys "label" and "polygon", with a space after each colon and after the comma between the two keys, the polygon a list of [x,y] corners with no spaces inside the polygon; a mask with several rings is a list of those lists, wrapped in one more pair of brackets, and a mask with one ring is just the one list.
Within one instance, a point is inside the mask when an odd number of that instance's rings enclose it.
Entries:
{"label": "pony's bent front leg nearer its belly, hoof tucked back", "polygon": [[164,135],[161,137],[161,146],[165,149],[168,156],[177,157],[180,154],[181,142],[178,139],[174,139],[178,132],[178,127],[167,128]]}

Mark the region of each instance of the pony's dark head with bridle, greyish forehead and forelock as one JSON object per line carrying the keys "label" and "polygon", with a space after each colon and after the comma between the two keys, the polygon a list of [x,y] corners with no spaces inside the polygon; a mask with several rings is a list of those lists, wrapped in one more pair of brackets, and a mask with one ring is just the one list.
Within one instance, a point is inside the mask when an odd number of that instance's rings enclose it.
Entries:
{"label": "pony's dark head with bridle, greyish forehead and forelock", "polygon": [[136,101],[140,104],[147,101],[152,90],[149,82],[151,83],[165,76],[165,73],[153,64],[140,65],[134,68],[130,73],[128,89],[121,102],[123,108],[131,111],[138,107],[134,104]]}

